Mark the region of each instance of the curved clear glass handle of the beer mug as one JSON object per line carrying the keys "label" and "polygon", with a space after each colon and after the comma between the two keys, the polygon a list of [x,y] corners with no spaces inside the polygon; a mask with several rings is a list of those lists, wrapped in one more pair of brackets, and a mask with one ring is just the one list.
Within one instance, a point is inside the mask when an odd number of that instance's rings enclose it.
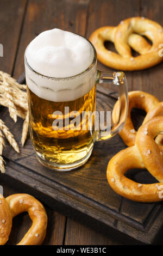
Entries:
{"label": "curved clear glass handle of the beer mug", "polygon": [[98,132],[96,140],[102,141],[115,136],[118,132],[122,130],[123,126],[126,123],[128,115],[128,87],[126,76],[121,71],[107,72],[98,70],[97,83],[109,83],[117,86],[120,100],[119,115],[116,123],[111,125],[109,132],[106,131],[106,129],[99,130]]}

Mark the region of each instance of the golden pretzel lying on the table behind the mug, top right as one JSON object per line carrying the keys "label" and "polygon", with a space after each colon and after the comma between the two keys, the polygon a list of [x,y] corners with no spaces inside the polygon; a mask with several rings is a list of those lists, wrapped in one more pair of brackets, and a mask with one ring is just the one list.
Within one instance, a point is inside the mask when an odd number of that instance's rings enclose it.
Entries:
{"label": "golden pretzel lying on the table behind the mug, top right", "polygon": [[[152,41],[152,46],[143,38]],[[117,70],[142,70],[162,62],[159,45],[163,42],[163,28],[157,22],[145,17],[131,17],[117,27],[101,27],[94,31],[89,40],[95,46],[97,59],[106,66]],[[116,52],[105,48],[104,42],[114,43]],[[133,57],[131,48],[140,55]]]}

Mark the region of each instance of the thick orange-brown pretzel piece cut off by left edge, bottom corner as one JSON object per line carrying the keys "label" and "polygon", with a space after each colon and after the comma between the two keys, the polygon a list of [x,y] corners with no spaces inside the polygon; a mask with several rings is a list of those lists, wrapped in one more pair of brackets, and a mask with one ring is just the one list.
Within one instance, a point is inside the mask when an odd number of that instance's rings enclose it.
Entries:
{"label": "thick orange-brown pretzel piece cut off by left edge, bottom corner", "polygon": [[9,205],[0,194],[0,245],[4,245],[8,239],[12,227],[12,216]]}

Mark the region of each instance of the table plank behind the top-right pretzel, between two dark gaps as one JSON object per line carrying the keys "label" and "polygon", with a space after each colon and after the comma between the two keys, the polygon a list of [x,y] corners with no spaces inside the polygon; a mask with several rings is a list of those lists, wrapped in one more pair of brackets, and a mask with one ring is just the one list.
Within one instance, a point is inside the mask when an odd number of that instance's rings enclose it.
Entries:
{"label": "table plank behind the top-right pretzel, between two dark gaps", "polygon": [[[123,0],[123,4],[118,0],[102,0],[100,4],[98,0],[91,1],[86,38],[89,39],[91,33],[99,27],[117,26],[122,20],[127,19],[127,17],[139,16],[139,4],[139,0]],[[114,51],[114,46],[111,43],[109,47],[110,50]],[[115,71],[100,62],[98,62],[98,69],[101,71]],[[128,88],[132,90],[133,73],[125,72],[125,74],[128,81]],[[103,84],[103,87],[108,88],[107,84]]]}

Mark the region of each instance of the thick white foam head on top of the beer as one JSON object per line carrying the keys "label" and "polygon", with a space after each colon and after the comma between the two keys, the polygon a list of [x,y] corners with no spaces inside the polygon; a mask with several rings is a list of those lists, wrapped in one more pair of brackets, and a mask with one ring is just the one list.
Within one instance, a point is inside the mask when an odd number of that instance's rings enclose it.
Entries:
{"label": "thick white foam head on top of the beer", "polygon": [[42,99],[76,100],[90,92],[95,84],[96,64],[83,72],[92,64],[93,58],[93,47],[82,36],[57,28],[42,32],[26,50],[27,63],[36,71],[25,62],[27,85]]}

